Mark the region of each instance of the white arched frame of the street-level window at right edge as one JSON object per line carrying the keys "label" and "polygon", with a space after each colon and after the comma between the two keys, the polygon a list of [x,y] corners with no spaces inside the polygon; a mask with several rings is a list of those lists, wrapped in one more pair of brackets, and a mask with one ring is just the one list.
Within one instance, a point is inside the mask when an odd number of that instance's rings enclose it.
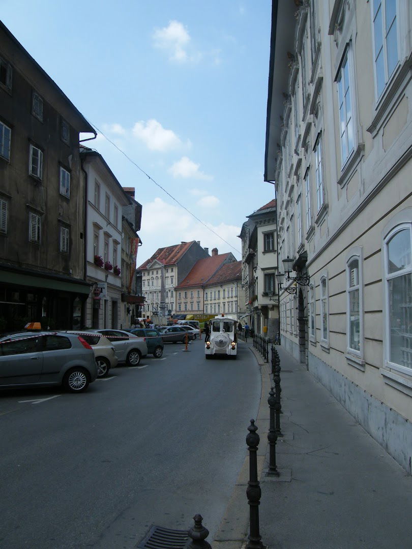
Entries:
{"label": "white arched frame of the street-level window at right edge", "polygon": [[387,244],[389,240],[391,240],[398,232],[403,231],[404,229],[409,229],[409,235],[410,235],[410,242],[411,242],[411,249],[412,249],[412,223],[410,222],[412,215],[412,208],[407,208],[401,212],[399,212],[396,216],[394,216],[392,222],[389,223],[389,226],[392,225],[392,228],[389,231],[386,231],[386,236],[383,238],[383,254],[382,254],[382,260],[383,260],[383,281],[384,281],[384,322],[385,322],[385,337],[383,340],[383,349],[384,349],[384,360],[385,360],[385,367],[391,370],[396,370],[398,372],[402,372],[403,374],[407,374],[408,376],[412,376],[412,368],[402,366],[400,364],[397,364],[396,362],[391,362],[391,307],[390,307],[390,298],[389,295],[389,282],[397,277],[401,277],[404,275],[410,275],[412,277],[412,261],[411,264],[408,266],[405,266],[402,270],[396,271],[394,273],[388,273],[387,272],[387,264],[388,264],[388,251],[387,251]]}

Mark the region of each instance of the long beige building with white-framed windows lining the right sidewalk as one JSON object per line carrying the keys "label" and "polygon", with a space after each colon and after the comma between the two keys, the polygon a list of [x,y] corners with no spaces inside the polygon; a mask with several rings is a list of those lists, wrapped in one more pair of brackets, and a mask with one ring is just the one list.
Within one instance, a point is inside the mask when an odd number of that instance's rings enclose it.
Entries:
{"label": "long beige building with white-framed windows lining the right sidewalk", "polygon": [[300,4],[272,11],[282,345],[410,473],[412,4]]}

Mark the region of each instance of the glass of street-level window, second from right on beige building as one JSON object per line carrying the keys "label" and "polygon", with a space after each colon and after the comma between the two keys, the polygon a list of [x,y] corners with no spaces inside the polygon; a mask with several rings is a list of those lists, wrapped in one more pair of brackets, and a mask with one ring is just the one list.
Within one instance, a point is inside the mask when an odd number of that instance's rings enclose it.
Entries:
{"label": "glass of street-level window, second from right on beige building", "polygon": [[352,256],[347,261],[347,346],[354,354],[360,354],[362,338],[362,295],[360,257]]}

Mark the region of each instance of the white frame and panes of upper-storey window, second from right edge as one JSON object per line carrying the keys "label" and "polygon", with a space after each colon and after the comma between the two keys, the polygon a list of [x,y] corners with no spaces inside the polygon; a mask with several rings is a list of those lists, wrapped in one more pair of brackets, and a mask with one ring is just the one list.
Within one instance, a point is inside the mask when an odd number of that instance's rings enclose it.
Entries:
{"label": "white frame and panes of upper-storey window, second from right edge", "polygon": [[[336,78],[336,87],[338,94],[338,116],[339,116],[339,138],[341,141],[341,159],[342,168],[347,160],[352,156],[355,150],[355,124],[354,124],[354,104],[353,104],[353,82],[352,82],[352,48],[350,43],[346,48]],[[348,103],[350,114],[348,114]],[[350,133],[352,132],[352,141]]]}

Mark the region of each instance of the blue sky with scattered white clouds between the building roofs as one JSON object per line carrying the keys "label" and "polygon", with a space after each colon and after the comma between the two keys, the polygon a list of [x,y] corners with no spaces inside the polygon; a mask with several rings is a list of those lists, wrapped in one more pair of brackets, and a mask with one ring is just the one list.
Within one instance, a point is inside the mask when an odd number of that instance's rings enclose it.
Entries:
{"label": "blue sky with scattered white clouds between the building roofs", "polygon": [[0,0],[0,18],[96,128],[85,144],[136,189],[137,265],[190,240],[240,260],[242,223],[275,198],[271,1]]}

